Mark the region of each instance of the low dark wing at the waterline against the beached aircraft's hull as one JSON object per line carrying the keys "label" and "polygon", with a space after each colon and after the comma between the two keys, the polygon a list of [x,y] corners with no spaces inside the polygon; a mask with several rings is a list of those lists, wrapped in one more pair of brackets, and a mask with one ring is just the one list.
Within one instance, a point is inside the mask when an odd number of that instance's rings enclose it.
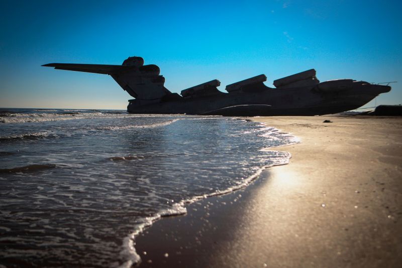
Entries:
{"label": "low dark wing at the waterline against the beached aircraft's hull", "polygon": [[270,108],[271,108],[270,105],[262,105],[262,104],[235,105],[206,112],[201,115],[264,116],[269,114]]}

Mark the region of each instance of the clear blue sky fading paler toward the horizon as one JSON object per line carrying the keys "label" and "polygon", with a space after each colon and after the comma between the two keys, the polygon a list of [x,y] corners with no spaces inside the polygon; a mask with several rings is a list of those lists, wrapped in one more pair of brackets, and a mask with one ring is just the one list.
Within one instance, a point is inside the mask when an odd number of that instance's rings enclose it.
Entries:
{"label": "clear blue sky fading paler toward the horizon", "polygon": [[109,75],[46,63],[156,64],[171,92],[315,68],[320,81],[398,81],[364,107],[402,103],[401,1],[2,1],[0,107],[122,109]]}

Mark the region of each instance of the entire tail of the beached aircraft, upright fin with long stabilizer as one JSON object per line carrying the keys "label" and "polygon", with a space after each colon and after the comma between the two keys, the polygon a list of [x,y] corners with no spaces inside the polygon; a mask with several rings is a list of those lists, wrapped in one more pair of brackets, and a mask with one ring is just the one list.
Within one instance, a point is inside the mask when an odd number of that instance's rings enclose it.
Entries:
{"label": "entire tail of the beached aircraft, upright fin with long stabilizer", "polygon": [[164,86],[165,78],[159,75],[159,67],[153,64],[144,65],[144,59],[141,57],[129,57],[123,65],[49,63],[42,66],[109,74],[123,90],[139,100],[159,101],[171,94]]}

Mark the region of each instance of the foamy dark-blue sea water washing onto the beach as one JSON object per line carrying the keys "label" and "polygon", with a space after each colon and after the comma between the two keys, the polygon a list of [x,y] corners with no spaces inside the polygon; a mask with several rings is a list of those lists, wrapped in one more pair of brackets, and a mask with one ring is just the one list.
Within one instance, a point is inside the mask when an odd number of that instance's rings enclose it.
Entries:
{"label": "foamy dark-blue sea water washing onto the beach", "polygon": [[0,109],[0,264],[130,266],[136,234],[246,187],[297,143],[245,118]]}

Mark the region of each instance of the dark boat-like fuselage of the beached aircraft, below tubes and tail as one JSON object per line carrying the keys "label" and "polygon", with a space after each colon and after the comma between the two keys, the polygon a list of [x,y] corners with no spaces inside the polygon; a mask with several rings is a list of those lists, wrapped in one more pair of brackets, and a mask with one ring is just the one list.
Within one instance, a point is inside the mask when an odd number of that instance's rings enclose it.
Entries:
{"label": "dark boat-like fuselage of the beached aircraft, below tubes and tail", "polygon": [[261,92],[222,93],[215,96],[182,98],[175,101],[142,105],[137,100],[129,102],[127,111],[138,114],[214,114],[225,107],[238,105],[266,105],[265,109],[244,112],[244,116],[309,116],[334,114],[354,110],[388,92],[389,86],[356,81],[353,86],[341,91],[320,92],[317,86],[295,88],[270,88]]}

